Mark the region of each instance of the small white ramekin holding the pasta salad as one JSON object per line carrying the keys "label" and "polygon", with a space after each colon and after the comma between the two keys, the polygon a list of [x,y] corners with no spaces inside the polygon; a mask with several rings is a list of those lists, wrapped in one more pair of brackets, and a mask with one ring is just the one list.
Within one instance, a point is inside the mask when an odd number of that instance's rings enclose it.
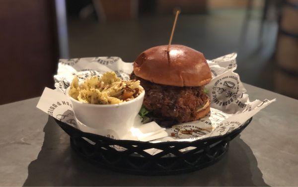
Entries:
{"label": "small white ramekin holding the pasta salad", "polygon": [[[145,95],[145,91],[143,91],[137,98],[124,103],[95,105],[75,100],[69,95],[69,90],[70,87],[66,89],[66,95],[73,103],[76,119],[83,124],[81,128],[86,125],[99,135],[113,136],[114,138],[123,137],[134,125]],[[84,131],[84,129],[81,130]]]}

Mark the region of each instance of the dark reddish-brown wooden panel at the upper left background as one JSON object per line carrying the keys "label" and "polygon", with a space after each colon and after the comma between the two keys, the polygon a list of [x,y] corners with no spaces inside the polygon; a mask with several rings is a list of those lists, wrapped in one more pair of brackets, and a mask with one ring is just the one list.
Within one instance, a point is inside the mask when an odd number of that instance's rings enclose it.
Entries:
{"label": "dark reddish-brown wooden panel at the upper left background", "polygon": [[53,0],[0,1],[0,104],[53,86],[58,60]]}

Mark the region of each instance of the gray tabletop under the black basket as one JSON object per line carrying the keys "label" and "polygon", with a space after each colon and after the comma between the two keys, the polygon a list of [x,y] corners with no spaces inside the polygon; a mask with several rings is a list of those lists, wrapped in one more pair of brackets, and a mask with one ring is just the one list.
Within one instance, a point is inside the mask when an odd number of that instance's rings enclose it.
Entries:
{"label": "gray tabletop under the black basket", "polygon": [[245,84],[251,100],[277,102],[254,116],[213,166],[177,176],[97,168],[36,109],[39,98],[0,106],[0,186],[298,186],[298,100]]}

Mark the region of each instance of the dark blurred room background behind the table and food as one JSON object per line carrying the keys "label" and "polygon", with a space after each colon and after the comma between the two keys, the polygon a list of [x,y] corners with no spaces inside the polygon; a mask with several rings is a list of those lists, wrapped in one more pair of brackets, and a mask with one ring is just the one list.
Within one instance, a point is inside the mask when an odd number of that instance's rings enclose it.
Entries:
{"label": "dark blurred room background behind the table and food", "polygon": [[0,104],[53,87],[59,58],[167,44],[176,8],[173,44],[237,52],[243,82],[298,98],[298,0],[0,0]]}

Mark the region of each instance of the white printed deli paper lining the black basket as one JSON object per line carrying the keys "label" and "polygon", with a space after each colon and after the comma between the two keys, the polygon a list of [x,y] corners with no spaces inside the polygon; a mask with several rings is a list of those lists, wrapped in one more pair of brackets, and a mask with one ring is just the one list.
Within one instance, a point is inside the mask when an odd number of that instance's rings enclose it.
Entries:
{"label": "white printed deli paper lining the black basket", "polygon": [[[155,122],[141,124],[140,117],[135,120],[134,127],[123,139],[164,142],[164,141],[194,141],[202,138],[224,135],[243,125],[249,118],[268,106],[273,100],[255,100],[250,102],[248,94],[235,73],[237,68],[236,53],[207,61],[212,72],[212,80],[205,88],[209,91],[211,112],[198,121],[161,128]],[[123,62],[119,57],[96,57],[60,60],[57,75],[54,75],[56,90],[46,88],[37,108],[50,116],[72,125],[82,131],[97,133],[81,124],[74,116],[73,106],[64,94],[70,86],[74,75],[79,81],[92,75],[102,75],[106,71],[115,71],[122,79],[129,79],[133,71],[133,63]],[[84,128],[82,128],[84,126]],[[111,137],[110,134],[106,136]],[[113,138],[113,137],[112,137]],[[125,150],[117,148],[117,150]],[[188,148],[188,149],[191,149]],[[185,151],[187,149],[181,150]],[[147,150],[150,154],[158,153],[156,149]]]}

